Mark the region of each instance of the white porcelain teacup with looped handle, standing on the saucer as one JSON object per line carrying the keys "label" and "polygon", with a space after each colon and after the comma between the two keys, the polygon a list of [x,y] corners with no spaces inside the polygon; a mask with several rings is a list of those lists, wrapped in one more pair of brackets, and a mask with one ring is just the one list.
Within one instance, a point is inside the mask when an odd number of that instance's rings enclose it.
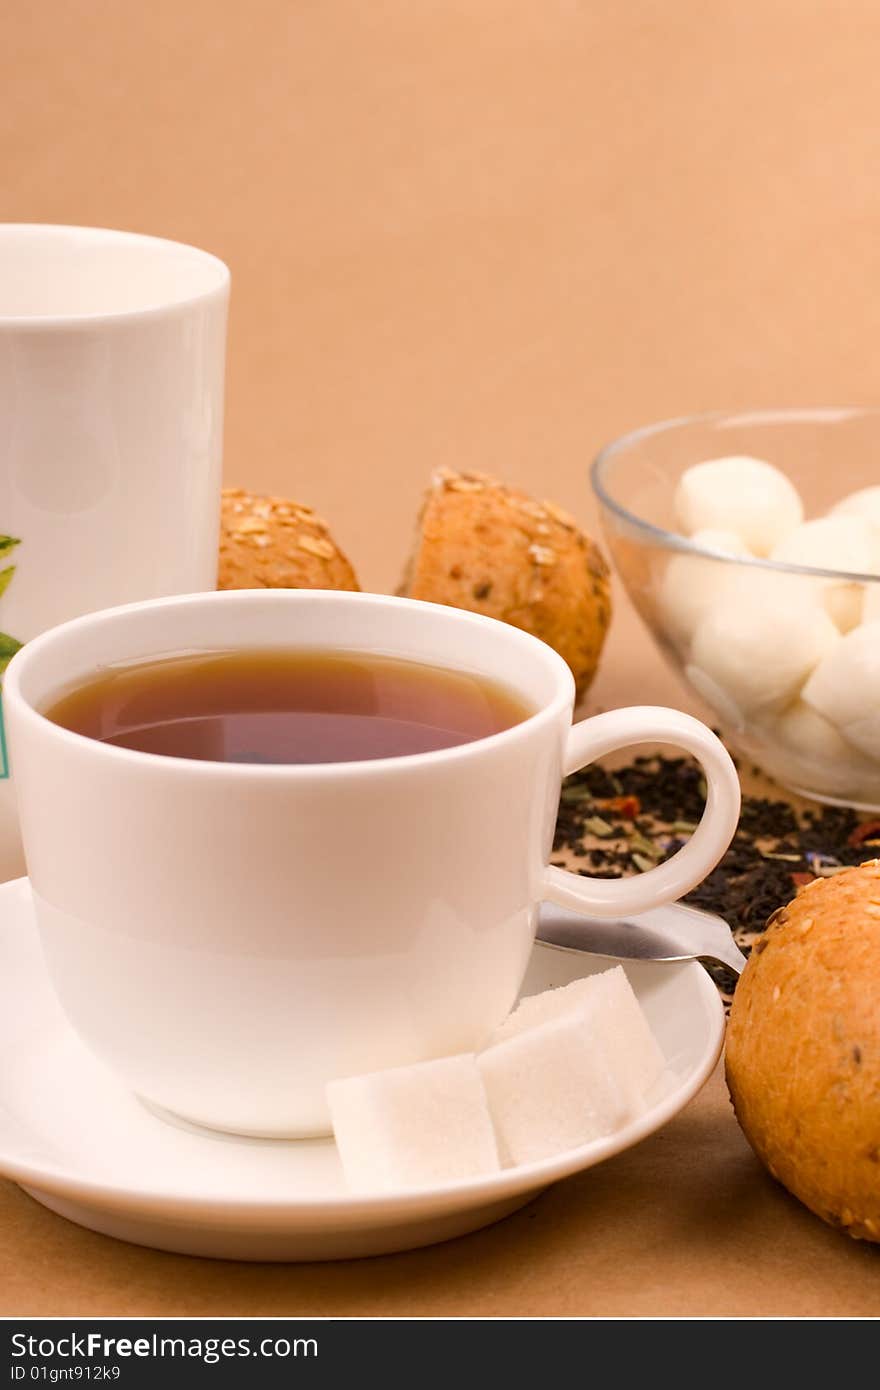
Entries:
{"label": "white porcelain teacup with looped handle, standing on the saucer", "polygon": [[[359,763],[156,756],[40,710],[108,663],[247,648],[371,652],[484,674],[534,714],[488,738]],[[571,727],[566,663],[434,603],[246,591],[75,619],[4,687],[40,935],[78,1031],[146,1101],[266,1136],[328,1129],[328,1080],[481,1047],[513,1005],[542,898],[594,916],[681,897],[726,849],[733,763],[696,720],[635,708]],[[548,867],[562,777],[612,749],[702,763],[674,859],[609,881]]]}

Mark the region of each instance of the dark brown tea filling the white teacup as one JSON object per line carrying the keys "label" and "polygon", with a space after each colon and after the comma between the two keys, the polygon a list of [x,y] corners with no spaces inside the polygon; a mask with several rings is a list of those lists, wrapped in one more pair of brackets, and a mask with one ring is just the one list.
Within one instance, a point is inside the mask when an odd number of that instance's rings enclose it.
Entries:
{"label": "dark brown tea filling the white teacup", "polygon": [[170,758],[341,763],[468,744],[531,710],[464,671],[360,652],[252,651],[110,667],[44,713]]}

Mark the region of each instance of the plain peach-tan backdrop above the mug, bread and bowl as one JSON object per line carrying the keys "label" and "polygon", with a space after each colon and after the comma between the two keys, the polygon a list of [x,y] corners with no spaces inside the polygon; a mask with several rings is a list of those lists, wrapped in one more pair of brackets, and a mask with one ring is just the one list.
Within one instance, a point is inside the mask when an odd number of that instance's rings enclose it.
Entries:
{"label": "plain peach-tan backdrop above the mug, bread and bowl", "polygon": [[232,268],[227,477],[393,584],[430,468],[873,400],[876,0],[10,0],[0,220]]}

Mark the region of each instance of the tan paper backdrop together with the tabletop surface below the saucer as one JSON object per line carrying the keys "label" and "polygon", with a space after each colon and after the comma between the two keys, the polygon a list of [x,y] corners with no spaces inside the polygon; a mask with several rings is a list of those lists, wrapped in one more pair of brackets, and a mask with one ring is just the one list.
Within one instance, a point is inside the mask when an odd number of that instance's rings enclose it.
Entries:
{"label": "tan paper backdrop together with the tabletop surface below the saucer", "polygon": [[[869,402],[874,0],[42,0],[0,11],[0,220],[232,268],[227,478],[393,585],[435,464],[592,520],[608,438]],[[626,605],[591,703],[684,701]],[[877,1251],[766,1179],[720,1076],[494,1230],[342,1266],[139,1251],[0,1184],[0,1314],[855,1314]]]}

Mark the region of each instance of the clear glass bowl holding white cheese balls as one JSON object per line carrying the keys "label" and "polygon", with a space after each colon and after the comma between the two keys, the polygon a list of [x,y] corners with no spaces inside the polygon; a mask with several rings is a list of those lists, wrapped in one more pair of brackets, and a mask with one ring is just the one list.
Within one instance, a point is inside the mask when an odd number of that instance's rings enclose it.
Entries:
{"label": "clear glass bowl holding white cheese balls", "polygon": [[[673,498],[681,474],[731,455],[781,468],[812,520],[880,485],[880,410],[670,420],[614,441],[592,467],[605,538],[627,592],[728,744],[801,795],[879,810],[880,574],[734,556],[678,534]],[[880,531],[876,563],[880,569]],[[855,664],[841,660],[852,642],[834,652],[841,664],[820,714],[815,685],[808,701],[804,687],[848,628],[865,631],[866,620],[874,626],[859,639]]]}

